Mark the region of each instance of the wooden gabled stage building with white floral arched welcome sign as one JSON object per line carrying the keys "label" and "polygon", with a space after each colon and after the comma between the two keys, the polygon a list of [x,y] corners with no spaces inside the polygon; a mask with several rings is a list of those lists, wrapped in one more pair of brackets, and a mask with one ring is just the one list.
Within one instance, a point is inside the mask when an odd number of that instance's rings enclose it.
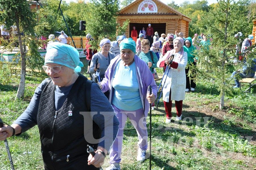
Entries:
{"label": "wooden gabled stage building with white floral arched welcome sign", "polygon": [[189,35],[190,18],[158,0],[136,0],[118,12],[117,22],[122,26],[129,20],[126,36],[130,37],[132,27],[135,26],[139,35],[142,27],[147,29],[148,24],[162,33],[175,33],[175,30],[183,33],[183,37]]}

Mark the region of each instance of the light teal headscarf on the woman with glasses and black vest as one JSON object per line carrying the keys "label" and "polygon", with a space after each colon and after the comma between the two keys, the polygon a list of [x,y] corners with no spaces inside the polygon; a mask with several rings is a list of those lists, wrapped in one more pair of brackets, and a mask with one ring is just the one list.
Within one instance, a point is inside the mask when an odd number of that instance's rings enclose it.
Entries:
{"label": "light teal headscarf on the woman with glasses and black vest", "polygon": [[60,42],[52,42],[47,45],[45,64],[55,63],[65,65],[75,72],[81,72],[83,63],[79,59],[79,52],[73,46]]}

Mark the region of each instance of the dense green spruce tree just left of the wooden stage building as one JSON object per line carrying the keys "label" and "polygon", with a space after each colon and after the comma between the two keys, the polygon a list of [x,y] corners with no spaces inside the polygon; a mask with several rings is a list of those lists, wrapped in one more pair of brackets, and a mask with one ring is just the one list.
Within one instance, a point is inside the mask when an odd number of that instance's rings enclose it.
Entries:
{"label": "dense green spruce tree just left of the wooden stage building", "polygon": [[101,39],[116,39],[119,0],[93,0],[87,7],[86,32],[94,38],[90,41],[92,48],[98,49]]}

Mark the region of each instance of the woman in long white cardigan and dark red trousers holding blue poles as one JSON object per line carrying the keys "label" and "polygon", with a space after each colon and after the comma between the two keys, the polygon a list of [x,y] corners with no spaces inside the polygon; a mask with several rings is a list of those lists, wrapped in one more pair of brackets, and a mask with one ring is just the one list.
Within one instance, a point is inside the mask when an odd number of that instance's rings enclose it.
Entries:
{"label": "woman in long white cardigan and dark red trousers holding blue poles", "polygon": [[[184,40],[181,37],[174,39],[174,49],[168,51],[157,62],[157,67],[166,67],[166,74],[163,77],[163,100],[166,112],[166,123],[171,122],[172,100],[175,100],[177,111],[176,120],[181,120],[182,103],[185,99],[187,52],[183,50]],[[172,57],[174,56],[173,60]]]}

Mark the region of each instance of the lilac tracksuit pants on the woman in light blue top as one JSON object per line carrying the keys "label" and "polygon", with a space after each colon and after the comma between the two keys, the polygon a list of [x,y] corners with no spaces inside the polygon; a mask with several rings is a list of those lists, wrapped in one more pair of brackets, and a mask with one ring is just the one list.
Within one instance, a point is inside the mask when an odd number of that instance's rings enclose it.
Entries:
{"label": "lilac tracksuit pants on the woman in light blue top", "polygon": [[121,152],[122,152],[122,144],[123,144],[123,134],[124,134],[124,126],[127,120],[127,117],[132,122],[134,128],[137,131],[139,142],[138,145],[141,150],[147,150],[147,126],[146,126],[146,118],[144,115],[144,110],[138,109],[135,111],[124,111],[115,107],[112,104],[112,107],[116,113],[117,119],[119,120],[119,130],[117,133],[117,137],[114,140],[113,146],[109,153],[110,164],[119,163],[121,161]]}

